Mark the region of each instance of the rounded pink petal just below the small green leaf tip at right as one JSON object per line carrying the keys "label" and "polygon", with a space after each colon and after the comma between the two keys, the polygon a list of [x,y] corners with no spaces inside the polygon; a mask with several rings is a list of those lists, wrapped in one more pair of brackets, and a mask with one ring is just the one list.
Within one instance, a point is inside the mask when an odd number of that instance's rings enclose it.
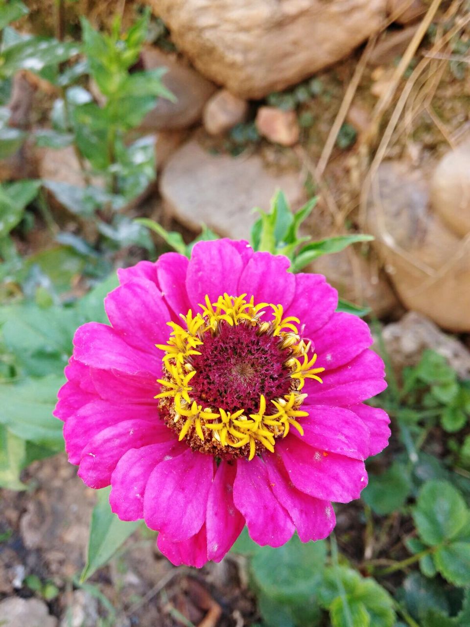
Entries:
{"label": "rounded pink petal just below the small green leaf tip at right", "polygon": [[364,349],[372,345],[367,324],[357,315],[333,314],[330,320],[315,332],[313,344],[318,364],[328,370],[344,366]]}

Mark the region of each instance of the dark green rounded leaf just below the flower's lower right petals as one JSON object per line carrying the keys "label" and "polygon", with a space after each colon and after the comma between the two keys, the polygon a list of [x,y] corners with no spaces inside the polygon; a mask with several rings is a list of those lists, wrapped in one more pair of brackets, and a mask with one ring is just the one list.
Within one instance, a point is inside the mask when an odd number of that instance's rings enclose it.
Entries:
{"label": "dark green rounded leaf just below the flower's lower right petals", "polygon": [[394,461],[382,475],[369,475],[368,486],[361,496],[376,514],[384,516],[403,507],[411,488],[409,470],[403,463]]}

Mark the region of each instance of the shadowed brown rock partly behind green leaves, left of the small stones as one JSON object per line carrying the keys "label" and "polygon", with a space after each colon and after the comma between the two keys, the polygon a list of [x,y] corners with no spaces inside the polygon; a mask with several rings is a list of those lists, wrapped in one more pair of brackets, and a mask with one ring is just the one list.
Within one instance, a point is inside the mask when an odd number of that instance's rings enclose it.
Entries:
{"label": "shadowed brown rock partly behind green leaves, left of the small stones", "polygon": [[216,87],[174,55],[165,54],[159,48],[144,48],[142,61],[146,70],[167,68],[162,82],[176,101],[159,98],[157,106],[145,116],[141,129],[145,132],[187,129],[199,122],[204,105]]}

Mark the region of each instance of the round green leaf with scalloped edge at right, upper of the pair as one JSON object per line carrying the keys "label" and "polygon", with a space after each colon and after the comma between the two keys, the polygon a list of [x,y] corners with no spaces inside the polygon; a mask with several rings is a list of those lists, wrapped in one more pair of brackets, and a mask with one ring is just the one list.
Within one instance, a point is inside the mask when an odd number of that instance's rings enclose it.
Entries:
{"label": "round green leaf with scalloped edge at right, upper of the pair", "polygon": [[459,533],[467,522],[467,507],[451,483],[432,480],[420,490],[413,518],[422,541],[434,546]]}

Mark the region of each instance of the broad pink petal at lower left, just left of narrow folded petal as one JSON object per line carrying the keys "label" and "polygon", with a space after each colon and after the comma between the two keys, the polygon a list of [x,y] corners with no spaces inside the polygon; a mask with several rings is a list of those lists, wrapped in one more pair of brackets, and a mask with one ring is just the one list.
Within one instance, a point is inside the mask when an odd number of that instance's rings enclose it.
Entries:
{"label": "broad pink petal at lower left, just left of narrow folded petal", "polygon": [[197,534],[206,519],[213,476],[212,456],[194,453],[191,449],[159,463],[145,489],[147,526],[174,542]]}

